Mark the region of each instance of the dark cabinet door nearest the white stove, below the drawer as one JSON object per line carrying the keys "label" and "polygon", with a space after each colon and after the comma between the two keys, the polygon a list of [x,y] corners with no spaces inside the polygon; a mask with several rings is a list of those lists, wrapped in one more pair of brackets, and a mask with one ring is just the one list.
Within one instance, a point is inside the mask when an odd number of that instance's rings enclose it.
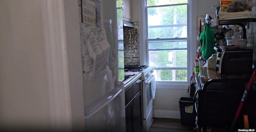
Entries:
{"label": "dark cabinet door nearest the white stove, below the drawer", "polygon": [[143,117],[142,117],[142,94],[141,90],[134,97],[133,100],[133,132],[141,132],[143,128]]}

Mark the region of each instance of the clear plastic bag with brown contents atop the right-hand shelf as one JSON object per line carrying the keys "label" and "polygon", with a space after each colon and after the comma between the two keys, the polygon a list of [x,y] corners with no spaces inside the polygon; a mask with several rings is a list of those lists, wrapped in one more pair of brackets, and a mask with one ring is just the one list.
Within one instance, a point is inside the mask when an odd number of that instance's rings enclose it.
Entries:
{"label": "clear plastic bag with brown contents atop the right-hand shelf", "polygon": [[252,2],[252,0],[234,0],[228,5],[226,12],[252,11],[252,7],[255,5],[256,3]]}

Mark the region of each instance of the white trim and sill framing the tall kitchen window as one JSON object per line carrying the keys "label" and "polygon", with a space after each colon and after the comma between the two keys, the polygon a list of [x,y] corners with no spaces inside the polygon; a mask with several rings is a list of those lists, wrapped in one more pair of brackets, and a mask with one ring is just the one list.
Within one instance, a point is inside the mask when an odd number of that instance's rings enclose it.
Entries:
{"label": "white trim and sill framing the tall kitchen window", "polygon": [[[185,82],[171,82],[171,81],[156,81],[156,88],[164,89],[188,89],[189,79],[192,76],[194,69],[194,59],[196,58],[196,49],[198,46],[197,35],[197,2],[196,0],[188,0],[188,23],[187,23],[187,81]],[[193,8],[192,8],[193,7]],[[139,41],[140,41],[140,65],[149,65],[148,58],[148,43],[147,29],[146,29],[146,0],[138,0],[138,27],[139,27]],[[181,39],[181,38],[179,38]],[[193,45],[192,45],[193,44]]]}

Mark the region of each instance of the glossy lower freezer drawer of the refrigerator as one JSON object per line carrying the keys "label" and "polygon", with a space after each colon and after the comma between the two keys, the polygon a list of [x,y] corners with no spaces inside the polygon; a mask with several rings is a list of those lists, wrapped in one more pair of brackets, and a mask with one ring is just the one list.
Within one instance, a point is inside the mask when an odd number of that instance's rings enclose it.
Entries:
{"label": "glossy lower freezer drawer of the refrigerator", "polygon": [[[125,113],[123,104],[124,90],[120,90],[120,93],[116,93],[116,96],[109,99],[109,102],[105,105],[94,103],[96,106],[88,105],[85,111],[90,113],[91,108],[99,108],[96,113],[92,112],[92,115],[85,117],[86,132],[125,132]],[[109,97],[111,97],[110,95]],[[87,114],[87,113],[86,113]]]}

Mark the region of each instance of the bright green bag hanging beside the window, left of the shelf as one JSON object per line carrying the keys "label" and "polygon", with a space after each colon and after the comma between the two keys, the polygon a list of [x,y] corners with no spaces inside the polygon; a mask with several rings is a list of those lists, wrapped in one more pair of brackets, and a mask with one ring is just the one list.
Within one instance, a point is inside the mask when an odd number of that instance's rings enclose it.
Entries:
{"label": "bright green bag hanging beside the window, left of the shelf", "polygon": [[201,45],[202,56],[207,60],[212,54],[215,53],[214,46],[214,30],[210,24],[206,23],[204,25],[204,32],[200,34],[199,42]]}

